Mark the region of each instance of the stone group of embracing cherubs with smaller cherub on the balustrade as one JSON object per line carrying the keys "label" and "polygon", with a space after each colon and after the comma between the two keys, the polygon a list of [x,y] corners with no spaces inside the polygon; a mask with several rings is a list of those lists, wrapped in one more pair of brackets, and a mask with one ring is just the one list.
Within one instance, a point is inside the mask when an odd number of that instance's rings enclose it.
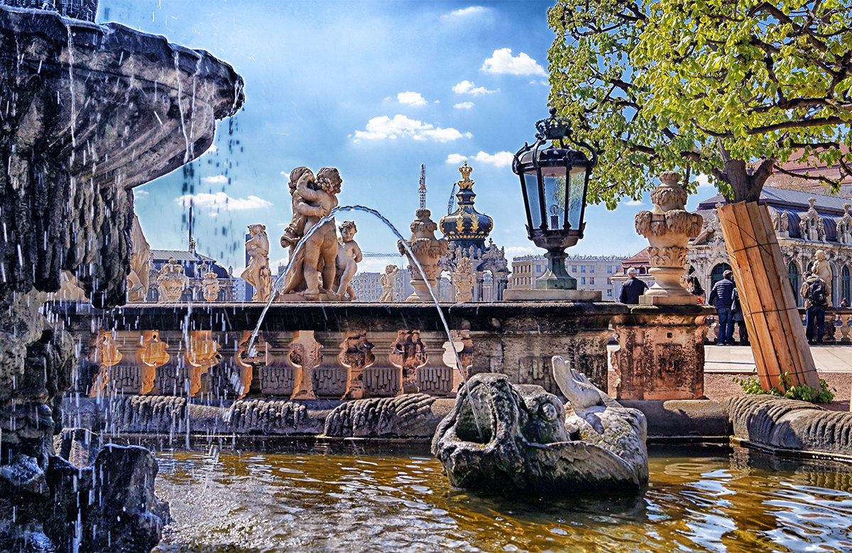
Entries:
{"label": "stone group of embracing cherubs with smaller cherub on the balustrade", "polygon": [[[337,208],[337,193],[343,180],[336,168],[321,168],[314,176],[314,172],[307,167],[298,167],[290,174],[290,193],[292,195],[293,219],[281,237],[281,246],[291,248],[291,255],[299,240],[310,231],[306,229],[309,219],[314,223],[331,213]],[[333,220],[329,221],[333,225]],[[311,225],[313,226],[313,225]],[[302,262],[304,266],[305,292],[313,296],[313,285],[318,279],[318,271],[323,278],[323,288],[336,292],[343,299],[353,300],[355,294],[350,282],[358,269],[357,264],[363,257],[358,243],[354,241],[355,232],[358,231],[354,221],[344,221],[338,227],[340,238],[337,238],[337,248],[326,247],[325,242],[318,242],[316,248],[306,243],[306,257]],[[328,269],[333,268],[334,272]],[[311,274],[313,272],[313,275]],[[328,282],[330,277],[334,280],[331,287]],[[294,290],[295,291],[295,290]]]}

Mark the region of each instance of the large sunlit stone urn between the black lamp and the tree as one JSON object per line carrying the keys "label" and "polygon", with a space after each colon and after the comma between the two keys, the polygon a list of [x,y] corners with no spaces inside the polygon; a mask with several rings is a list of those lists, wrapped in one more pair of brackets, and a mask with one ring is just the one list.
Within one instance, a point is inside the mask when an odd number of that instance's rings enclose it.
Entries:
{"label": "large sunlit stone urn between the black lamp and the tree", "polygon": [[678,181],[681,175],[666,171],[651,192],[653,208],[636,214],[636,232],[648,238],[651,257],[649,272],[656,281],[639,298],[641,305],[694,305],[695,299],[681,284],[687,265],[689,238],[697,236],[704,224],[699,214],[686,208],[687,191]]}

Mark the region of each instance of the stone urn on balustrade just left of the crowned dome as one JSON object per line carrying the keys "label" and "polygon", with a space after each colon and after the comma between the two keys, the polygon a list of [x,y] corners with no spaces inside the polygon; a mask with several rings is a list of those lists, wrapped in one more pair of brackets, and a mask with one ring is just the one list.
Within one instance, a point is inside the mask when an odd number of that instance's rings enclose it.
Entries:
{"label": "stone urn on balustrade just left of the crowned dome", "polygon": [[406,301],[432,301],[432,296],[429,294],[429,287],[435,288],[435,281],[438,278],[438,259],[441,255],[446,254],[446,249],[449,244],[444,238],[435,238],[435,231],[438,230],[438,225],[429,215],[432,212],[426,208],[417,209],[417,219],[412,223],[412,239],[407,240],[409,248],[412,248],[414,257],[417,262],[423,266],[423,272],[426,273],[426,280],[423,280],[423,275],[414,264],[411,255],[408,254],[406,247],[402,241],[397,242],[397,248],[400,249],[400,254],[405,254],[408,258],[408,270],[412,271],[412,287],[414,292],[406,298]]}

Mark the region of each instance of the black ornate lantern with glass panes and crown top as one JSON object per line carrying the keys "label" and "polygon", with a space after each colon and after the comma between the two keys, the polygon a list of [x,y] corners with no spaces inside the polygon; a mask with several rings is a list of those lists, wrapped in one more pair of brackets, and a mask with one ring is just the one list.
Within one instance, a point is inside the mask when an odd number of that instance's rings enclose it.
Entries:
{"label": "black ornate lantern with glass panes and crown top", "polygon": [[[535,288],[576,290],[577,279],[565,269],[565,248],[583,237],[586,190],[597,154],[590,145],[573,140],[567,121],[556,117],[553,108],[550,117],[535,126],[538,140],[532,146],[525,143],[512,162],[512,171],[521,178],[527,236],[547,250],[548,268]],[[567,149],[566,141],[589,151],[590,157]]]}

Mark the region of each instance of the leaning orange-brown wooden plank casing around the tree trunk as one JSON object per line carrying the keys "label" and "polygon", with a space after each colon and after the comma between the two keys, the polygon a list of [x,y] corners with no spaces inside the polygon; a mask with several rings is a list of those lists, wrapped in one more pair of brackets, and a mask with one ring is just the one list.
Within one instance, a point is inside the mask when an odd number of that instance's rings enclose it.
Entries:
{"label": "leaning orange-brown wooden plank casing around the tree trunk", "polygon": [[738,202],[721,206],[718,214],[760,384],[786,390],[781,375],[787,373],[790,385],[819,388],[769,210]]}

